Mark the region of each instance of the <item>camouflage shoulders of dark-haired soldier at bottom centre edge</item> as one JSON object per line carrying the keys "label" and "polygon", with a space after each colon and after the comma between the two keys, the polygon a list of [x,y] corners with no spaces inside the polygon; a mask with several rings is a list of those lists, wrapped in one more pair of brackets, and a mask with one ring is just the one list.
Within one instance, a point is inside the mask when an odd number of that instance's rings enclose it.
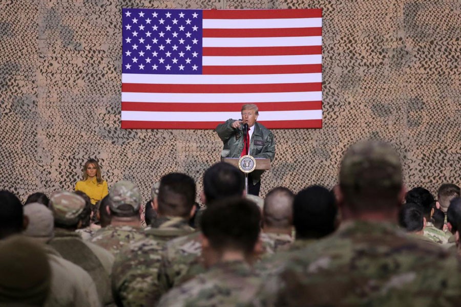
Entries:
{"label": "camouflage shoulders of dark-haired soldier at bottom centre edge", "polygon": [[240,306],[253,299],[261,282],[244,262],[221,262],[172,289],[158,306]]}

